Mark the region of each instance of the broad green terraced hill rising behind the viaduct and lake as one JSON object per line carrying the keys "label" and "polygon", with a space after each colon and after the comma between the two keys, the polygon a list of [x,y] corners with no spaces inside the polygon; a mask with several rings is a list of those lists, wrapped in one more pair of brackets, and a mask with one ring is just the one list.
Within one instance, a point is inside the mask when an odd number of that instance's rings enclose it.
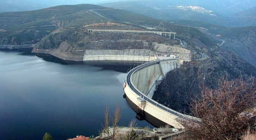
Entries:
{"label": "broad green terraced hill rising behind the viaduct and lake", "polygon": [[[133,29],[147,30],[157,27],[161,21],[121,9],[96,5],[64,5],[26,12],[0,13],[0,45],[24,45],[38,43],[43,37],[61,28],[78,28],[92,23],[117,22]],[[177,32],[181,38],[204,38],[203,42],[214,45],[196,29],[188,33],[188,27],[165,23],[167,30]],[[143,26],[143,27],[142,27]],[[60,31],[60,30],[59,30]]]}

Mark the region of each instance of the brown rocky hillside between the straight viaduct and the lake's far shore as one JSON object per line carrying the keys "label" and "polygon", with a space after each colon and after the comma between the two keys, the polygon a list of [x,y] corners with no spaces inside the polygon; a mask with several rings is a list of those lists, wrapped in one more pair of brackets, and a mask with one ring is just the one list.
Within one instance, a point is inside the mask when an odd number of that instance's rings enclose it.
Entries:
{"label": "brown rocky hillside between the straight viaduct and the lake's far shore", "polygon": [[[166,44],[156,43],[163,42]],[[169,44],[169,45],[167,45]],[[125,50],[150,50],[150,53],[140,54],[137,51],[130,51],[128,54]],[[102,51],[99,51],[102,50]],[[108,51],[109,50],[109,51]],[[51,54],[65,60],[72,61],[92,61],[110,59],[113,56],[113,50],[124,50],[123,54],[117,54],[117,57],[142,57],[138,61],[154,60],[154,55],[177,55],[181,59],[191,60],[192,52],[182,48],[177,40],[161,37],[160,35],[150,33],[114,33],[94,31],[87,33],[85,29],[62,29],[56,30],[53,34],[44,37],[33,50],[35,53]],[[119,51],[121,52],[121,51]],[[100,55],[100,54],[101,55]],[[139,53],[139,54],[138,54]],[[99,56],[107,56],[99,58]],[[84,56],[85,55],[85,56]],[[90,58],[89,58],[90,56]],[[97,58],[96,58],[97,57]],[[124,60],[124,59],[122,59]],[[121,59],[118,59],[121,61]],[[130,61],[130,59],[127,61]]]}

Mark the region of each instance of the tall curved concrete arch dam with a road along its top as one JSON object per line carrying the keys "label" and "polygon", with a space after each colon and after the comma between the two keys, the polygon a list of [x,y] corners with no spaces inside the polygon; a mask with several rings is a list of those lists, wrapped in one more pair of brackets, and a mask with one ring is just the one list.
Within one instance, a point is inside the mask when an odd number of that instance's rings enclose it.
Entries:
{"label": "tall curved concrete arch dam with a road along its top", "polygon": [[182,128],[179,118],[200,120],[170,109],[151,99],[159,82],[170,70],[179,68],[182,59],[169,59],[148,62],[130,70],[124,79],[124,92],[126,97],[137,106],[137,116],[143,117],[145,113],[161,120],[175,128]]}

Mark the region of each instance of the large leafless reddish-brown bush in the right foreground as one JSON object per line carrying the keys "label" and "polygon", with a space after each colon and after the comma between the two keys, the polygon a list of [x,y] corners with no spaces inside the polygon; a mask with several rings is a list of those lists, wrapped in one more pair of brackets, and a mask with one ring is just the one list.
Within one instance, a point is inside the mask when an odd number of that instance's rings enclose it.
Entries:
{"label": "large leafless reddish-brown bush in the right foreground", "polygon": [[[253,121],[248,110],[256,105],[254,77],[228,81],[221,79],[218,89],[202,89],[194,99],[191,113],[201,121],[181,119],[186,139],[240,139]],[[183,139],[184,139],[183,138]]]}

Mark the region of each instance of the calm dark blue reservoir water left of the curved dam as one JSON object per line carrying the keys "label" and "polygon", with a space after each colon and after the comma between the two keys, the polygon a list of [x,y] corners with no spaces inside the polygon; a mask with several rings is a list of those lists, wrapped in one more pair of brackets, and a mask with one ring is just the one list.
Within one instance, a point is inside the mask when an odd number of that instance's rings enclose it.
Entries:
{"label": "calm dark blue reservoir water left of the curved dam", "polygon": [[135,118],[123,98],[126,73],[20,54],[0,51],[0,140],[41,140],[45,132],[55,140],[97,136],[107,106],[114,113],[120,105],[119,126]]}

